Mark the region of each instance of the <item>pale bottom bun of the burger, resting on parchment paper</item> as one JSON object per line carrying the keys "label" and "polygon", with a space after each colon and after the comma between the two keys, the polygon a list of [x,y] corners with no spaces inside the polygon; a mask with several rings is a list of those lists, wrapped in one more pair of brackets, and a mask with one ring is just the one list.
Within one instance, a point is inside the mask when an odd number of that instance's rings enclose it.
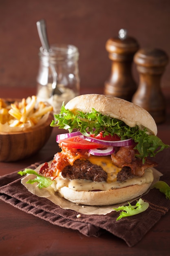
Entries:
{"label": "pale bottom bun of the burger, resting on parchment paper", "polygon": [[145,193],[152,183],[132,185],[107,191],[73,191],[64,186],[58,193],[66,200],[84,205],[111,205],[126,202]]}

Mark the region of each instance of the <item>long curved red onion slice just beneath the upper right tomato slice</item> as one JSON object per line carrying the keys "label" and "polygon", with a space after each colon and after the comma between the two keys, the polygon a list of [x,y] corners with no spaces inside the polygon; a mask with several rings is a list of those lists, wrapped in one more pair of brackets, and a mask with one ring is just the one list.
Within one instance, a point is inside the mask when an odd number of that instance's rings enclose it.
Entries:
{"label": "long curved red onion slice just beneath the upper right tomato slice", "polygon": [[121,147],[121,146],[130,146],[133,143],[133,140],[130,139],[124,139],[124,140],[119,140],[119,141],[110,141],[110,140],[102,140],[102,139],[95,139],[93,137],[86,137],[84,136],[83,139],[86,139],[91,142],[96,142],[99,144],[104,144],[107,146],[115,146],[115,147]]}

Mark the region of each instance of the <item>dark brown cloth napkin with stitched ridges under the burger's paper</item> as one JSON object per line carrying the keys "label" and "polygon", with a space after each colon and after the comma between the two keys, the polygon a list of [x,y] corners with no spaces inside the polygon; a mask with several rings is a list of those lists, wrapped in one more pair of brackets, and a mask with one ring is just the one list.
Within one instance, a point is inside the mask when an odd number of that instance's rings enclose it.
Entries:
{"label": "dark brown cloth napkin with stitched ridges under the burger's paper", "polygon": [[[160,164],[157,169],[163,173],[161,180],[170,185],[168,171],[170,149],[166,149],[158,155],[156,161]],[[29,168],[34,169],[39,164],[32,164]],[[142,196],[142,199],[150,204],[143,213],[122,218],[119,221],[116,221],[119,212],[115,211],[107,215],[81,214],[81,217],[77,218],[77,212],[61,209],[48,199],[31,194],[21,184],[21,176],[17,172],[0,177],[0,199],[54,225],[78,230],[85,236],[98,237],[108,231],[122,238],[129,247],[136,245],[170,209],[170,200],[167,200],[158,189],[151,189],[148,194]],[[132,204],[136,204],[136,201]]]}

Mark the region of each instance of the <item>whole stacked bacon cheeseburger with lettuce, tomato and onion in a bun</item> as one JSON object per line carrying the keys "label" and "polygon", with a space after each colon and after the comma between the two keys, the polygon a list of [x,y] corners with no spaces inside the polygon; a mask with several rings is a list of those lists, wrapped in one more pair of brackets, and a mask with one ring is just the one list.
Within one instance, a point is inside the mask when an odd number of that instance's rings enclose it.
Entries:
{"label": "whole stacked bacon cheeseburger with lettuce, tomato and onion in a bun", "polygon": [[143,108],[102,94],[75,97],[55,115],[51,126],[61,152],[39,173],[66,200],[82,205],[111,205],[145,193],[153,182],[150,158],[168,147]]}

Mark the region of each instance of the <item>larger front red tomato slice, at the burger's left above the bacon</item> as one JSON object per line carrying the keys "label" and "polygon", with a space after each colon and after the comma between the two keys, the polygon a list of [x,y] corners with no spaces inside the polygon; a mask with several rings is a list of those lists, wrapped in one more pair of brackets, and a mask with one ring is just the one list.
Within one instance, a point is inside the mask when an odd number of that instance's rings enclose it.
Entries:
{"label": "larger front red tomato slice, at the burger's left above the bacon", "polygon": [[78,149],[106,148],[106,145],[90,142],[85,139],[82,139],[79,136],[64,139],[63,141],[60,142],[60,146]]}

